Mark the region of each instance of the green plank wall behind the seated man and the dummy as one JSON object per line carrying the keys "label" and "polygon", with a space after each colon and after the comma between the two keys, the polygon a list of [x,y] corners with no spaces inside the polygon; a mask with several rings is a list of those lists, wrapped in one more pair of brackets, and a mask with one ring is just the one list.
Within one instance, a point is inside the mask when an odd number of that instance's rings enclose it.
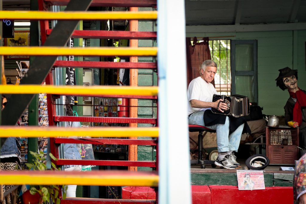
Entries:
{"label": "green plank wall behind the seated man and the dummy", "polygon": [[278,77],[278,69],[287,66],[291,69],[297,69],[298,85],[301,89],[306,89],[306,30],[186,34],[186,37],[194,36],[198,39],[201,37],[231,36],[216,39],[257,40],[258,103],[263,107],[263,114],[284,115],[283,107],[289,94],[276,87],[275,79]]}

